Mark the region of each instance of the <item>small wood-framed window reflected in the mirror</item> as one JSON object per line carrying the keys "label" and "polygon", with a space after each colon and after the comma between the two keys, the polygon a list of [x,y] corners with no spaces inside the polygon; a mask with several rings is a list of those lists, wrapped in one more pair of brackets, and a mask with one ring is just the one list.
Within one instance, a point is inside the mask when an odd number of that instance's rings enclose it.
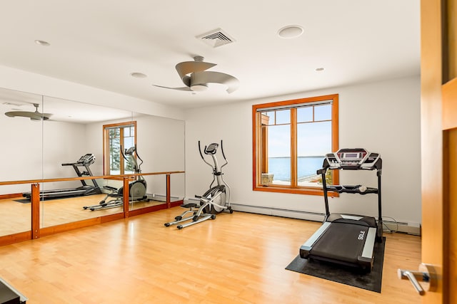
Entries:
{"label": "small wood-framed window reflected in the mirror", "polygon": [[104,174],[134,173],[134,166],[122,157],[121,151],[136,145],[136,121],[103,126]]}

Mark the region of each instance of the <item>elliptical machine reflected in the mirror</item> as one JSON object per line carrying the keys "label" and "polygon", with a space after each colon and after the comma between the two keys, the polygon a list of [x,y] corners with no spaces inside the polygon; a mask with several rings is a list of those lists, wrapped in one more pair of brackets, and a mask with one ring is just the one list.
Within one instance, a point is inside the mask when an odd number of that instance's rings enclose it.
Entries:
{"label": "elliptical machine reflected in the mirror", "polygon": [[[136,151],[136,145],[126,149],[124,152],[121,147],[121,154],[126,161],[129,159],[134,164],[134,173],[141,174],[141,164],[143,164],[143,159]],[[135,155],[134,155],[135,154]],[[135,157],[136,156],[136,157]],[[129,159],[127,159],[129,157]],[[140,163],[136,161],[136,158],[140,160]],[[105,189],[109,189],[111,192],[106,194],[105,198],[102,199],[98,205],[94,206],[84,206],[83,209],[89,209],[91,211],[94,210],[101,210],[101,209],[109,209],[122,206],[124,204],[124,187],[120,187],[119,189],[114,187],[105,186]],[[148,196],[146,195],[146,189],[148,188],[146,184],[146,180],[141,175],[138,176],[138,179],[134,180],[133,182],[129,182],[129,201],[149,201]],[[109,197],[113,197],[109,201]]]}

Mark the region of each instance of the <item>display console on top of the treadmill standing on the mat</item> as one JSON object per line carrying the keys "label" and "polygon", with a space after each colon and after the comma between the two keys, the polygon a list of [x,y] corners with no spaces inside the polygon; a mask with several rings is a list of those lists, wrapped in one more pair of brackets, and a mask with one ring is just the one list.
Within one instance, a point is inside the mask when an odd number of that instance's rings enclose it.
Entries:
{"label": "display console on top of the treadmill standing on the mat", "polygon": [[368,152],[363,148],[346,148],[326,154],[330,169],[372,170],[375,169],[378,159],[381,159],[379,153]]}

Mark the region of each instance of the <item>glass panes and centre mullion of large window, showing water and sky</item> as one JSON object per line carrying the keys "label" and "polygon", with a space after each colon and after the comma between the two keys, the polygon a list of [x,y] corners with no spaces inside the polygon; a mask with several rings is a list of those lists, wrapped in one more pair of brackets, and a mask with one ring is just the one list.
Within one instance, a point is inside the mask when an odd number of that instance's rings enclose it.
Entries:
{"label": "glass panes and centre mullion of large window, showing water and sky", "polygon": [[316,171],[331,152],[331,109],[331,103],[324,103],[261,113],[272,184],[291,185],[294,176],[297,186],[318,186]]}

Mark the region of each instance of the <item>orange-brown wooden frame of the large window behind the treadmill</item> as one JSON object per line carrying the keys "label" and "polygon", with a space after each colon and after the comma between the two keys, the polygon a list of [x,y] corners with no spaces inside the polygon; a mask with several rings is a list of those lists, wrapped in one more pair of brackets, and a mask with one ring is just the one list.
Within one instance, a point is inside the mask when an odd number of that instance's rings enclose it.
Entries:
{"label": "orange-brown wooden frame of the large window behind the treadmill", "polygon": [[[323,190],[317,187],[305,187],[305,186],[293,186],[293,184],[297,184],[296,182],[296,117],[292,117],[291,121],[291,185],[278,185],[278,184],[271,184],[269,186],[263,186],[261,184],[261,168],[268,169],[268,162],[266,162],[266,155],[268,155],[266,145],[261,145],[259,138],[261,138],[260,132],[262,131],[261,128],[261,119],[258,119],[258,115],[261,115],[261,109],[268,109],[271,110],[272,108],[281,107],[291,107],[293,105],[303,104],[303,103],[319,103],[326,100],[332,100],[332,108],[331,108],[331,149],[332,151],[328,152],[336,152],[338,150],[338,94],[332,95],[321,95],[315,96],[311,98],[300,98],[295,100],[283,100],[273,103],[263,103],[259,105],[252,106],[252,137],[253,137],[253,169],[252,169],[252,182],[253,182],[253,191],[263,191],[263,192],[283,192],[283,193],[291,193],[291,194],[309,194],[309,195],[323,195]],[[260,155],[261,157],[258,157]],[[263,162],[263,163],[261,163]],[[266,170],[268,171],[268,170]],[[339,172],[338,170],[332,170],[333,173],[333,184],[338,184],[339,182]],[[337,193],[329,192],[329,196],[338,196]]]}

